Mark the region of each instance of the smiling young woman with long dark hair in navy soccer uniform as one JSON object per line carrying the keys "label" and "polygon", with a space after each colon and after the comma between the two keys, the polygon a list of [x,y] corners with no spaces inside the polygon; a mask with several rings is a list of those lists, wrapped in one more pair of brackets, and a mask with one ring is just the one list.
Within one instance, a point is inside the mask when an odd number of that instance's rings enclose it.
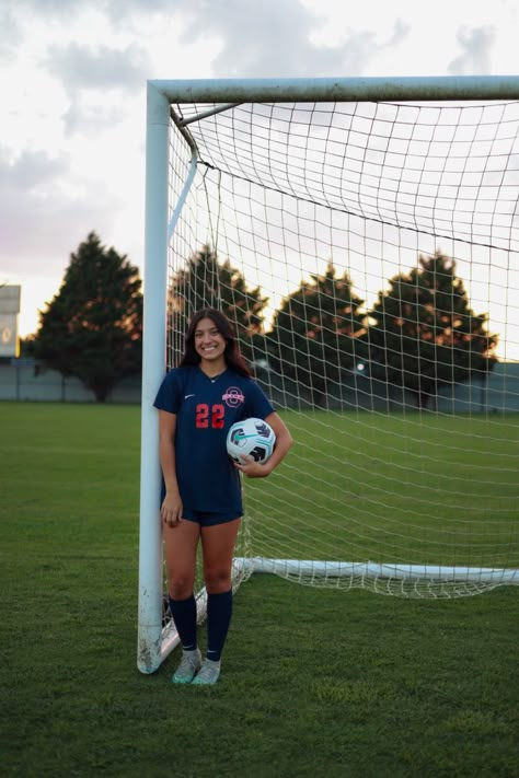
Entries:
{"label": "smiling young woman with long dark hair in navy soccer uniform", "polygon": [[[268,476],[292,439],[251,379],[228,318],[215,309],[189,323],[180,365],[165,376],[154,406],[160,414],[160,461],[170,607],[182,642],[174,683],[214,684],[232,614],[231,565],[243,513],[240,474]],[[231,425],[266,420],[276,433],[265,464],[238,465],[227,455]],[[195,565],[201,542],[207,590],[207,658],[196,636]]]}

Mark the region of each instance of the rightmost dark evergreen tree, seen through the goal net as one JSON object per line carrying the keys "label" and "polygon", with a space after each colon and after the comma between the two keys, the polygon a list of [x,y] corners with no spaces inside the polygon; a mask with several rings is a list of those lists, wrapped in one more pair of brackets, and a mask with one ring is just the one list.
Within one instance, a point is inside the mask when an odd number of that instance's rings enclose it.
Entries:
{"label": "rightmost dark evergreen tree, seen through the goal net", "polygon": [[413,392],[427,408],[442,385],[486,376],[497,337],[470,307],[455,263],[441,252],[395,276],[369,318],[371,374]]}

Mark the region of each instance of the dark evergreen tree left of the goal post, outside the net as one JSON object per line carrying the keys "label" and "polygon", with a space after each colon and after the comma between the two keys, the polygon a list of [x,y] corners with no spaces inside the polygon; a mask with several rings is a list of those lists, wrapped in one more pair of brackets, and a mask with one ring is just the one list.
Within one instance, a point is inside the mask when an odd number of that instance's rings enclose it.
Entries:
{"label": "dark evergreen tree left of the goal post, outside the net", "polygon": [[39,314],[34,356],[76,375],[105,400],[122,378],[141,369],[140,286],[138,268],[91,232],[70,255],[58,294]]}

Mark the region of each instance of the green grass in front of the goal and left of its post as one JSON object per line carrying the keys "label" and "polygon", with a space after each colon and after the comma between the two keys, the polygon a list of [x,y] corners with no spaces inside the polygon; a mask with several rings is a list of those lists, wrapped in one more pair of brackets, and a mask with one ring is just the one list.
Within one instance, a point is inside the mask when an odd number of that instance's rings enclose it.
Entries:
{"label": "green grass in front of the goal and left of its post", "polygon": [[254,577],[215,688],[173,686],[175,654],[139,674],[139,433],[136,407],[0,404],[2,776],[517,778],[517,588]]}

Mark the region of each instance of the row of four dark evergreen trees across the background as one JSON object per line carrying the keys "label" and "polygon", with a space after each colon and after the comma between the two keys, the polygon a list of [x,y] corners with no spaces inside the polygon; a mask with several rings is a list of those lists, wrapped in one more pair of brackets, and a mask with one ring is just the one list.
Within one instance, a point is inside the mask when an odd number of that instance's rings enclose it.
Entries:
{"label": "row of four dark evergreen trees across the background", "polygon": [[[330,263],[284,298],[266,332],[268,298],[260,287],[249,288],[228,259],[220,262],[201,246],[168,290],[171,326],[184,332],[192,313],[207,305],[235,323],[253,368],[268,364],[305,386],[315,405],[344,375],[364,368],[370,379],[412,392],[426,408],[441,386],[484,378],[496,361],[498,338],[487,330],[487,314],[472,311],[454,260],[439,251],[391,278],[370,310],[348,272],[338,276]],[[70,255],[61,287],[39,313],[38,330],[25,340],[23,353],[79,378],[105,400],[120,379],[141,370],[138,268],[91,232]]]}

